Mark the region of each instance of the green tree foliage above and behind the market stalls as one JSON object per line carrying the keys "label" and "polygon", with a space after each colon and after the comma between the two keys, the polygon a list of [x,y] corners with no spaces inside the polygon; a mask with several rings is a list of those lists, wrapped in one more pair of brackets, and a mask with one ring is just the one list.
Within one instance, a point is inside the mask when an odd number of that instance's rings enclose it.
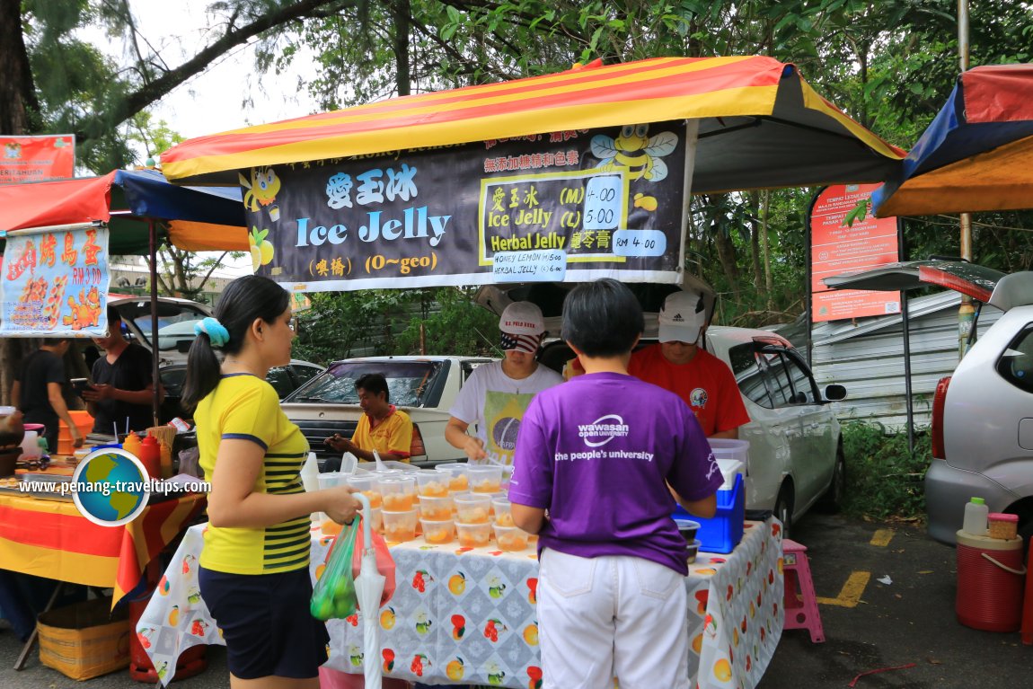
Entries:
{"label": "green tree foliage above and behind the market stalls", "polygon": [[[959,71],[954,0],[220,0],[208,8],[208,43],[179,65],[166,64],[159,41],[140,35],[129,10],[128,0],[0,0],[0,68],[17,75],[0,84],[0,132],[74,131],[87,166],[121,166],[134,138],[147,142],[149,154],[175,143],[167,126],[148,121],[148,105],[246,41],[257,46],[259,73],[311,60],[313,76],[299,88],[326,108],[545,74],[596,58],[762,54],[795,63],[818,92],[904,148]],[[1029,3],[971,3],[969,11],[973,65],[1030,60]],[[10,31],[12,21],[21,34]],[[85,26],[120,41],[122,61],[83,41]],[[686,262],[721,293],[721,322],[763,325],[803,310],[807,209],[816,191],[691,199]],[[1029,268],[1031,226],[1029,213],[977,214],[975,260]],[[958,254],[958,236],[956,218],[908,219],[904,257]],[[342,352],[411,351],[410,312],[450,322],[451,309],[464,313],[464,299],[457,290],[316,295],[313,314],[343,319],[322,321],[345,323],[334,333]],[[314,358],[341,355],[305,337]]]}

